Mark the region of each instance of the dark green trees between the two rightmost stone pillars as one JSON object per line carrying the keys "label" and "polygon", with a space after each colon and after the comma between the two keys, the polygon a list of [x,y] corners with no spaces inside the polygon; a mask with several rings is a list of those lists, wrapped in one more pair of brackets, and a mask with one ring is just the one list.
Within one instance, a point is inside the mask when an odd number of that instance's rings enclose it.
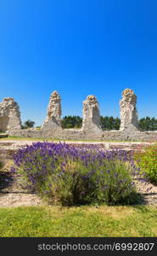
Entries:
{"label": "dark green trees between the two rightmost stone pillars", "polygon": [[113,116],[101,116],[101,127],[102,130],[119,130],[121,125],[121,119],[114,118]]}

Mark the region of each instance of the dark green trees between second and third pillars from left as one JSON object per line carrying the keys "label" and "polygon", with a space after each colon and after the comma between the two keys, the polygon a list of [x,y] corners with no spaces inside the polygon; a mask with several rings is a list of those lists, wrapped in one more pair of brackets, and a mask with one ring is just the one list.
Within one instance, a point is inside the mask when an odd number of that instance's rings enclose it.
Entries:
{"label": "dark green trees between second and third pillars from left", "polygon": [[61,121],[62,128],[81,128],[82,119],[80,116],[64,116]]}

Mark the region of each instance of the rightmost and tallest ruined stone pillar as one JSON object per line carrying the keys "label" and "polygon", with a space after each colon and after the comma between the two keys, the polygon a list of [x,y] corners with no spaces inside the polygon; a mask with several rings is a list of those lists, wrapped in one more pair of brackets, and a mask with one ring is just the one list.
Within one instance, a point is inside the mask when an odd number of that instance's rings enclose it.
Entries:
{"label": "rightmost and tallest ruined stone pillar", "polygon": [[137,96],[131,89],[123,90],[122,99],[120,101],[121,108],[121,127],[120,130],[127,128],[138,129],[137,119]]}

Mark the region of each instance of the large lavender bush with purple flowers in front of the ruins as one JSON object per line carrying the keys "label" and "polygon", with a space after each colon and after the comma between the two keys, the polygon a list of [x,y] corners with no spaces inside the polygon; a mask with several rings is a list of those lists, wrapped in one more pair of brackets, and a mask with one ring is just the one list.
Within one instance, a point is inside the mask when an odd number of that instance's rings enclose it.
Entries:
{"label": "large lavender bush with purple flowers in front of the ruins", "polygon": [[137,200],[133,165],[125,151],[95,146],[33,143],[14,155],[12,172],[25,189],[64,206],[88,203],[124,204]]}

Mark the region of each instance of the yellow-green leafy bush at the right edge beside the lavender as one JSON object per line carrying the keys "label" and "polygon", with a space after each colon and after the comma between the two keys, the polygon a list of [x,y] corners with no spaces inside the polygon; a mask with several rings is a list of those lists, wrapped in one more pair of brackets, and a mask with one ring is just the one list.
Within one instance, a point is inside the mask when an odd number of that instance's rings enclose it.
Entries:
{"label": "yellow-green leafy bush at the right edge beside the lavender", "polygon": [[135,160],[143,174],[157,184],[157,144],[143,147],[135,154]]}

